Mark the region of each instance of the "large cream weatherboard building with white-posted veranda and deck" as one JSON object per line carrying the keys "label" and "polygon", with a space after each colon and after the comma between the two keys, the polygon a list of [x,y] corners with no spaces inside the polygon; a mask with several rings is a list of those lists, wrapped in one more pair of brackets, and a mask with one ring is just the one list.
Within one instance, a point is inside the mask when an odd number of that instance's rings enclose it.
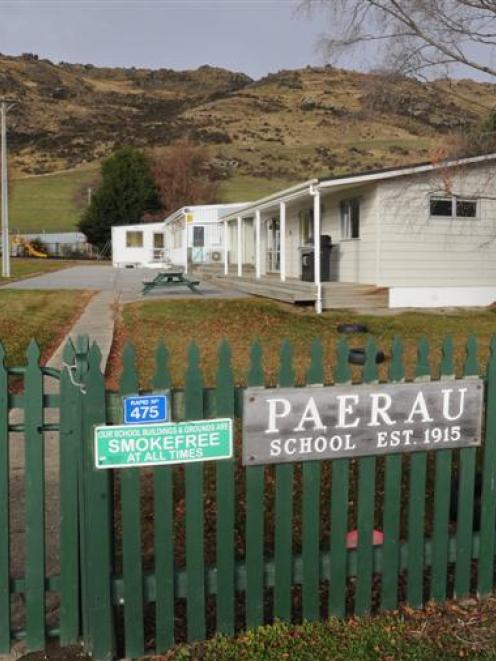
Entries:
{"label": "large cream weatherboard building with white-posted veranda and deck", "polygon": [[245,291],[318,312],[496,301],[496,154],[311,179],[222,222]]}

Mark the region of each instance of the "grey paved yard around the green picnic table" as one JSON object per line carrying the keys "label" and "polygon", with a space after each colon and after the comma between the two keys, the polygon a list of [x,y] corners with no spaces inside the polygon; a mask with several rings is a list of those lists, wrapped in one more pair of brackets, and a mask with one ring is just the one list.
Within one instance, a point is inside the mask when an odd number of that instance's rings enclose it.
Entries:
{"label": "grey paved yard around the green picnic table", "polygon": [[74,266],[63,271],[55,271],[36,278],[19,280],[8,289],[97,289],[113,292],[120,303],[140,300],[177,298],[245,298],[247,294],[220,288],[210,281],[200,282],[200,294],[187,287],[161,289],[142,296],[143,280],[152,280],[158,273],[155,269],[119,269],[112,266]]}

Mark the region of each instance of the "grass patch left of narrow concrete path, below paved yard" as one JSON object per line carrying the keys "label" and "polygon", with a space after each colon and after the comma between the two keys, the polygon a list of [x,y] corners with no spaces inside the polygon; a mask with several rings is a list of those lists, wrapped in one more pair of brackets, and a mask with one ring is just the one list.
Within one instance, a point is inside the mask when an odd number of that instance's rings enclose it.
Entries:
{"label": "grass patch left of narrow concrete path, below paved yard", "polygon": [[0,340],[8,365],[24,365],[31,338],[49,358],[72,323],[84,310],[91,292],[0,291]]}

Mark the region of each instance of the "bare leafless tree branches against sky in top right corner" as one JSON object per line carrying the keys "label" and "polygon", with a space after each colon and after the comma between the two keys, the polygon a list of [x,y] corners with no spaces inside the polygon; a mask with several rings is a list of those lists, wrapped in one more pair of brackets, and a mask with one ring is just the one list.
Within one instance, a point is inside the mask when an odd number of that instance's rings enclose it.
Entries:
{"label": "bare leafless tree branches against sky in top right corner", "polygon": [[366,48],[389,68],[428,77],[464,65],[496,77],[496,0],[303,0],[329,12],[331,61]]}

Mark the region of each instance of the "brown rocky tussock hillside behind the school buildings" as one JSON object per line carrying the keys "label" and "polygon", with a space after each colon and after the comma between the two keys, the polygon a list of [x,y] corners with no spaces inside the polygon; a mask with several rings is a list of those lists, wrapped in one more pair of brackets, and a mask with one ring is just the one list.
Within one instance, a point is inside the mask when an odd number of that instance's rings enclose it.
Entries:
{"label": "brown rocky tussock hillside behind the school buildings", "polygon": [[[208,66],[108,69],[0,56],[0,95],[19,100],[9,127],[16,177],[73,170],[63,175],[64,194],[68,181],[90,181],[116,146],[161,150],[181,138],[207,146],[226,200],[324,173],[426,160],[450,133],[486,116],[495,92],[470,80],[420,83],[327,67],[253,81]],[[46,181],[53,196],[57,179]],[[23,195],[35,195],[33,183],[18,182],[16,213]],[[37,182],[39,203],[42,188]]]}

